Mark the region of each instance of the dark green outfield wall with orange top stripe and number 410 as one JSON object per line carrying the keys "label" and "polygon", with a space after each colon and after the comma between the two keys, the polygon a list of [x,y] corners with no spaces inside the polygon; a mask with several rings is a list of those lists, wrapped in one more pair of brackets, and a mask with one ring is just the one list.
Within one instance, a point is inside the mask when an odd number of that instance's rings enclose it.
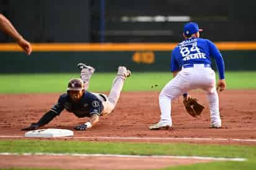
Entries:
{"label": "dark green outfield wall with orange top stripe and number 410", "polygon": [[[176,43],[137,44],[34,44],[27,56],[16,44],[1,44],[0,73],[68,73],[76,64],[93,65],[99,72],[124,65],[132,71],[169,71]],[[256,70],[256,43],[216,43],[226,70]]]}

